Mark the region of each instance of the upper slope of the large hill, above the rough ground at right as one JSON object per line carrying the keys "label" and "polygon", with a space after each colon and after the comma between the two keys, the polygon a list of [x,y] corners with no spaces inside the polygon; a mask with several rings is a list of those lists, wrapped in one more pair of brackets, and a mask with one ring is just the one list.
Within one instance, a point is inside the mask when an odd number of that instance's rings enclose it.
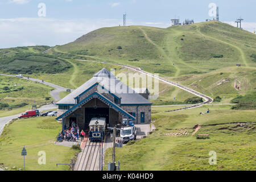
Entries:
{"label": "upper slope of the large hill, above the rough ground at right", "polygon": [[169,28],[100,28],[54,50],[137,65],[164,76],[256,65],[256,36],[214,21]]}

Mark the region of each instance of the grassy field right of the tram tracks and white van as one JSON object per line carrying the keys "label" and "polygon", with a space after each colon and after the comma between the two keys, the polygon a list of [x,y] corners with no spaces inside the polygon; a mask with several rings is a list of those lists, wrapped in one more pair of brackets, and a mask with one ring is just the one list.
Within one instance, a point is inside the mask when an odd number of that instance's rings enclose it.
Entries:
{"label": "grassy field right of the tram tracks and white van", "polygon": [[[152,107],[156,131],[116,149],[121,170],[255,170],[255,112],[230,107],[203,106],[174,113],[164,112],[172,107]],[[207,108],[210,114],[199,115]],[[239,122],[247,125],[240,126]],[[197,124],[202,126],[197,134],[209,134],[210,139],[191,136]],[[173,135],[185,132],[188,135]],[[216,165],[208,163],[210,151],[217,154]],[[105,164],[111,160],[109,148]]]}

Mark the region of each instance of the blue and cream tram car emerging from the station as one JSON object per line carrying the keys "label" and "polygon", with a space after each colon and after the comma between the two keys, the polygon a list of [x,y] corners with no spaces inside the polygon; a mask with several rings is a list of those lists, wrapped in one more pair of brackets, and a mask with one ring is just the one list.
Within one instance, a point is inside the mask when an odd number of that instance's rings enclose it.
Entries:
{"label": "blue and cream tram car emerging from the station", "polygon": [[103,140],[105,135],[106,118],[92,118],[89,123],[89,140]]}

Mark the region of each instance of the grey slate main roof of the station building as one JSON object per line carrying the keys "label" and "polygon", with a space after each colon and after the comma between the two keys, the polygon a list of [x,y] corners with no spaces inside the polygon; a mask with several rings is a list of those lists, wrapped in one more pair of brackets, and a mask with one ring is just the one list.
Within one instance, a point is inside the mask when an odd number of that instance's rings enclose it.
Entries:
{"label": "grey slate main roof of the station building", "polygon": [[[105,89],[108,89],[117,97],[122,97],[121,104],[152,104],[146,98],[142,97],[133,89],[129,88],[126,84],[123,84],[123,82],[115,78],[112,73],[110,73],[107,69],[104,68],[101,69],[101,71],[96,73],[90,80],[85,82],[79,88],[74,90],[72,93],[68,94],[68,96],[64,97],[62,100],[57,102],[57,105],[75,105],[75,97],[79,96],[82,92],[84,92],[85,90],[89,89],[91,86],[97,83],[101,86],[104,86]],[[121,88],[121,90],[125,90],[126,93],[119,93],[120,91],[115,90],[116,86],[117,88]]]}

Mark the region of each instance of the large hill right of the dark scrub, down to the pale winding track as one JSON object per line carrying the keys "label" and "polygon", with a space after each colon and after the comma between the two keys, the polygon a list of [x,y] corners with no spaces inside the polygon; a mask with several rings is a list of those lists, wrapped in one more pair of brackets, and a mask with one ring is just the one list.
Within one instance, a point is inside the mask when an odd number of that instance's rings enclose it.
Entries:
{"label": "large hill right of the dark scrub, down to the pale winding track", "polygon": [[[227,102],[255,89],[256,35],[216,21],[100,28],[52,52],[135,65]],[[179,89],[172,91],[172,97],[180,96]]]}

